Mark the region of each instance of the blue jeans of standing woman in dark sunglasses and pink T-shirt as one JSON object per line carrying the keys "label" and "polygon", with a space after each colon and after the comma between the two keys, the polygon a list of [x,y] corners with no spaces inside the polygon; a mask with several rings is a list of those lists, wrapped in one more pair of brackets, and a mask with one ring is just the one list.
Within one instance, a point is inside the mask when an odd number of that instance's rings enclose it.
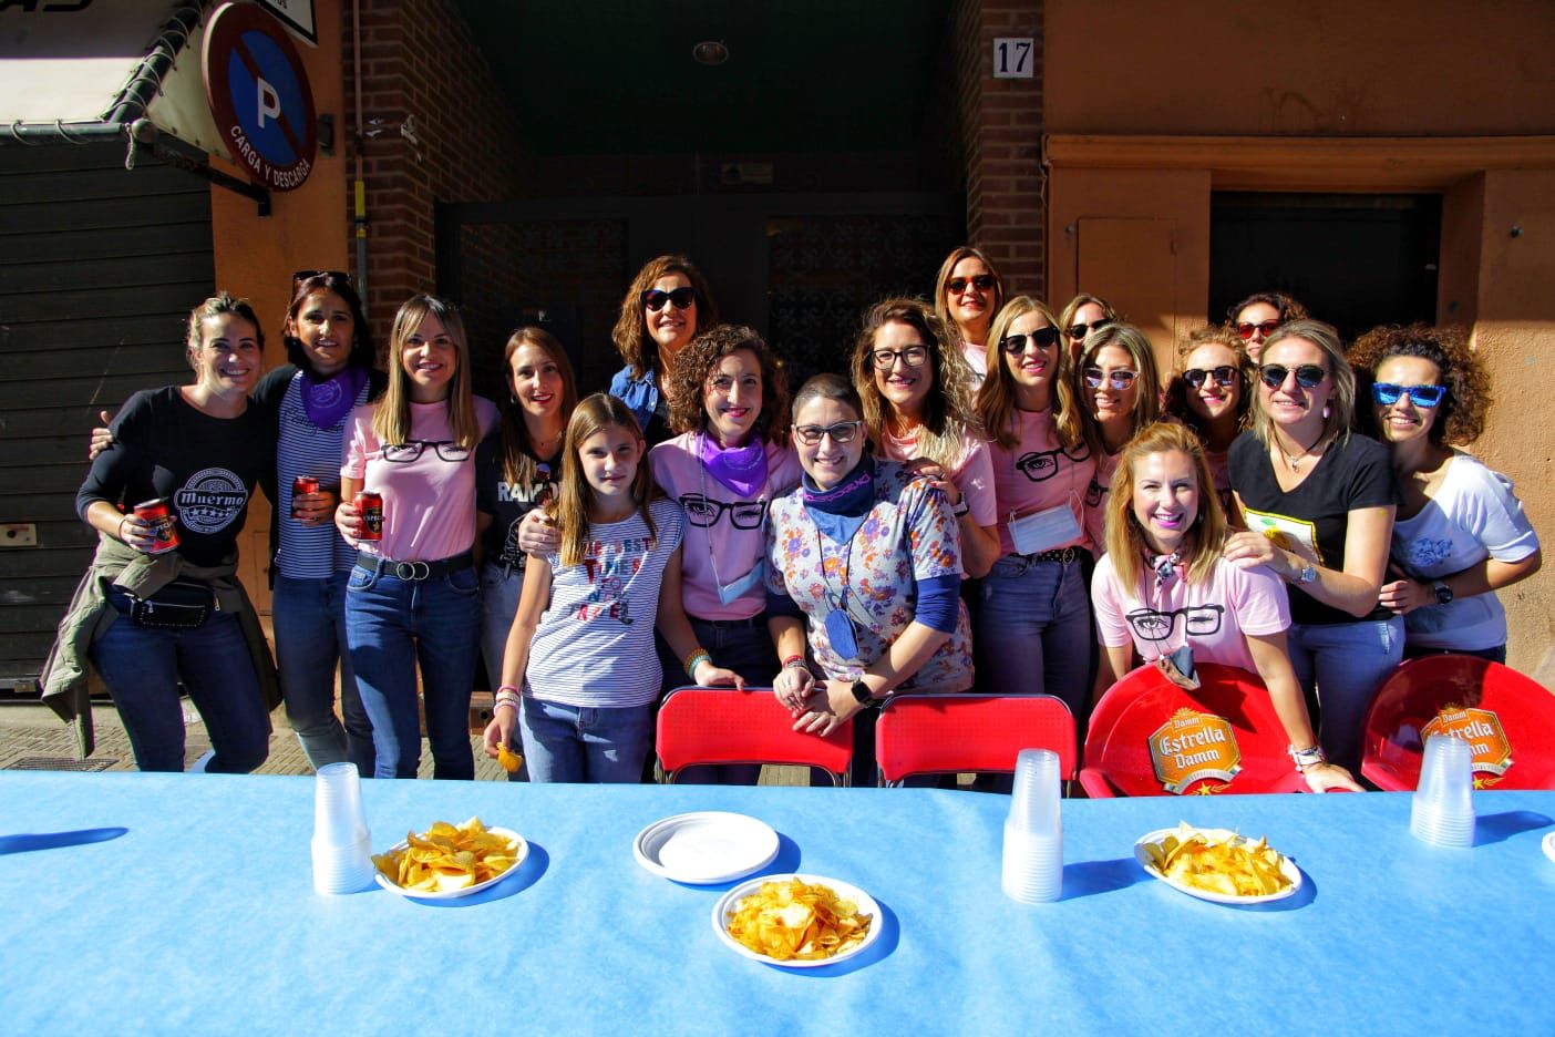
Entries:
{"label": "blue jeans of standing woman in dark sunglasses and pink T-shirt", "polygon": [[983,578],[977,639],[987,659],[989,695],[1062,698],[1084,731],[1090,707],[1090,595],[1081,563],[1005,555]]}

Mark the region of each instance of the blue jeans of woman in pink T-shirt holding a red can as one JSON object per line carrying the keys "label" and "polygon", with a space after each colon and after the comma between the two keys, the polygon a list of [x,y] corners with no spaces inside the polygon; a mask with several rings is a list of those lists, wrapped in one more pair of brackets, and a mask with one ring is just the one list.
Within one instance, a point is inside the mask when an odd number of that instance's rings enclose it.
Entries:
{"label": "blue jeans of woman in pink T-shirt holding a red can", "polygon": [[429,580],[401,580],[393,563],[351,569],[345,631],[362,706],[373,725],[378,777],[415,777],[421,723],[415,664],[421,664],[426,738],[432,776],[476,776],[470,754],[470,689],[476,673],[480,586],[476,571]]}

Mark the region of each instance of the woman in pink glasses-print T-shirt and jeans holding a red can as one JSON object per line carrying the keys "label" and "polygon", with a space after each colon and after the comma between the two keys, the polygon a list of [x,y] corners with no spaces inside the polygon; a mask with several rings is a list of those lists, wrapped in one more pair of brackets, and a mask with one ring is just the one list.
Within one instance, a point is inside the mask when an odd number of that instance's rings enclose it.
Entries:
{"label": "woman in pink glasses-print T-shirt and jeans holding a red can", "polygon": [[[415,295],[400,306],[389,356],[383,400],[351,412],[334,513],[358,550],[345,595],[351,662],[373,721],[378,777],[415,777],[420,662],[434,777],[471,779],[480,636],[474,451],[498,412],[470,390],[470,345],[451,303]],[[383,498],[378,529],[353,502],[361,490]]]}

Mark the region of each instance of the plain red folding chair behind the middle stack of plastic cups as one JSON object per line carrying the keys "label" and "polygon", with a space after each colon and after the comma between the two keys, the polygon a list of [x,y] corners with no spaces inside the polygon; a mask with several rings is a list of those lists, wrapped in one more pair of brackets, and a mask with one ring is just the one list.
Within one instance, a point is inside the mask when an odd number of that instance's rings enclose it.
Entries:
{"label": "plain red folding chair behind the middle stack of plastic cups", "polygon": [[1012,774],[1022,749],[1054,749],[1064,780],[1075,780],[1075,717],[1062,698],[899,695],[875,725],[885,785],[900,785],[908,774]]}

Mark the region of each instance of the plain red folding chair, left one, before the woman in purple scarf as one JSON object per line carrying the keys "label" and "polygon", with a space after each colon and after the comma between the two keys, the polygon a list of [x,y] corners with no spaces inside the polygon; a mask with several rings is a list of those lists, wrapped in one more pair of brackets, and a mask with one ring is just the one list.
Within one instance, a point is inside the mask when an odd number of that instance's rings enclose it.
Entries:
{"label": "plain red folding chair, left one, before the woman in purple scarf", "polygon": [[823,738],[795,731],[770,687],[681,687],[659,707],[658,754],[669,784],[700,763],[784,763],[819,766],[833,785],[847,785],[854,725]]}

